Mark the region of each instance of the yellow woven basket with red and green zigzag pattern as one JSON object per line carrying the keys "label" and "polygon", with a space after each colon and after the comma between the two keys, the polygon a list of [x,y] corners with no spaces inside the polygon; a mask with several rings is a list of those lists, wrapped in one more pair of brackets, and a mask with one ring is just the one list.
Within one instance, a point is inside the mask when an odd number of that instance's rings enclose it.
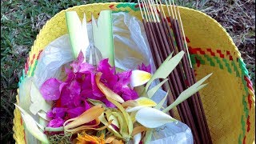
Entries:
{"label": "yellow woven basket with red and green zigzag pattern", "polygon": [[[95,3],[74,6],[67,10],[98,18],[101,10],[124,11],[141,19],[136,3]],[[67,34],[65,11],[56,14],[40,30],[27,58],[20,82],[33,76],[40,52],[55,38]],[[180,7],[190,58],[197,78],[214,73],[210,84],[200,91],[210,134],[214,143],[254,142],[254,90],[238,48],[226,30],[213,18],[197,10]],[[18,102],[18,96],[17,96]],[[177,118],[178,113],[175,112]],[[26,143],[20,112],[14,110],[14,139]]]}

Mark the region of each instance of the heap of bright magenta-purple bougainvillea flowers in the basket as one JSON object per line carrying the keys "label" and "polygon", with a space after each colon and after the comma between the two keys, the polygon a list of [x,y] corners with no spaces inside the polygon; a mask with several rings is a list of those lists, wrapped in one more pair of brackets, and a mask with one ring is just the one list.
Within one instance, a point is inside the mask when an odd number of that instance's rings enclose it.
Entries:
{"label": "heap of bright magenta-purple bougainvillea flowers in the basket", "polygon": [[[107,58],[102,59],[97,68],[83,61],[84,56],[81,52],[78,58],[70,64],[72,69],[65,68],[67,75],[65,82],[50,78],[43,83],[40,89],[43,98],[55,101],[55,107],[47,112],[47,117],[52,118],[48,126],[62,126],[64,120],[78,117],[90,109],[90,105],[86,101],[87,98],[100,100],[107,107],[116,107],[99,90],[95,82],[96,72],[102,73],[100,82],[119,94],[125,101],[138,98],[137,92],[129,87],[131,70],[116,74]],[[150,66],[145,66],[143,63],[139,68],[150,70]]]}

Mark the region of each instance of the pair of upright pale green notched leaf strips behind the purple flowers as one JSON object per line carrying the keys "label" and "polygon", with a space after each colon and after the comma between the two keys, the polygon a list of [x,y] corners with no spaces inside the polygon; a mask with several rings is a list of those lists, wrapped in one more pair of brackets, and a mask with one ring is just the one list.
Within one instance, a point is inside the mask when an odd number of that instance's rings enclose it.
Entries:
{"label": "pair of upright pale green notched leaf strips behind the purple flowers", "polygon": [[112,12],[110,10],[102,10],[98,22],[92,15],[92,42],[89,42],[85,14],[81,22],[75,11],[67,11],[66,25],[74,58],[77,58],[82,50],[86,52],[86,62],[95,66],[102,58],[109,58],[110,65],[114,66]]}

